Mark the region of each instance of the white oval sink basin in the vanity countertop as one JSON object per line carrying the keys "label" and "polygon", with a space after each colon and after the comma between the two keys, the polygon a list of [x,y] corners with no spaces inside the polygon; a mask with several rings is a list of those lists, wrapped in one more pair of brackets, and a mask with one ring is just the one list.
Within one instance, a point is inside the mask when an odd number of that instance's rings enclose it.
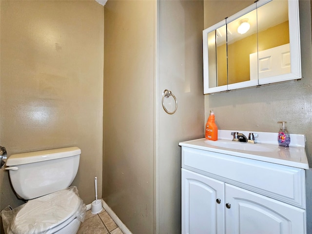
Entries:
{"label": "white oval sink basin in the vanity countertop", "polygon": [[231,140],[205,140],[205,143],[212,146],[234,149],[234,150],[246,150],[246,151],[257,151],[257,152],[277,152],[279,148],[277,146],[263,145],[263,144],[252,144],[245,142],[237,142]]}

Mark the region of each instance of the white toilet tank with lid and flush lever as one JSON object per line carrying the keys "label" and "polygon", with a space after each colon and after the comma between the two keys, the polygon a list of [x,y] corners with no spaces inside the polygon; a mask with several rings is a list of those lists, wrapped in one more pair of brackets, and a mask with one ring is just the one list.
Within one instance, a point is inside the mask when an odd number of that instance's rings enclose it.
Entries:
{"label": "white toilet tank with lid and flush lever", "polygon": [[69,147],[11,155],[5,169],[17,195],[29,200],[70,186],[80,154],[78,147]]}

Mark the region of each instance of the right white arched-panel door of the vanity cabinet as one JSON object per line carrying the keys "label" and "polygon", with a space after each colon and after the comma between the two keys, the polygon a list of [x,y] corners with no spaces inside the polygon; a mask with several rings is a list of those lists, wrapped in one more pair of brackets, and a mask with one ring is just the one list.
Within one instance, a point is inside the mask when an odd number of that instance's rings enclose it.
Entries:
{"label": "right white arched-panel door of the vanity cabinet", "polygon": [[225,184],[226,234],[305,234],[305,210]]}

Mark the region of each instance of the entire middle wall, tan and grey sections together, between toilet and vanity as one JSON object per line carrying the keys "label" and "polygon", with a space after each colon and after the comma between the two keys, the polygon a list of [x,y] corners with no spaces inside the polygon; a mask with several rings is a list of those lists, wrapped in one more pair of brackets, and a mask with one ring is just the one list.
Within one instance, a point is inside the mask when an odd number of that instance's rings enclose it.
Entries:
{"label": "entire middle wall, tan and grey sections together, between toilet and vanity", "polygon": [[203,137],[203,1],[104,8],[103,199],[135,234],[181,233],[178,143]]}

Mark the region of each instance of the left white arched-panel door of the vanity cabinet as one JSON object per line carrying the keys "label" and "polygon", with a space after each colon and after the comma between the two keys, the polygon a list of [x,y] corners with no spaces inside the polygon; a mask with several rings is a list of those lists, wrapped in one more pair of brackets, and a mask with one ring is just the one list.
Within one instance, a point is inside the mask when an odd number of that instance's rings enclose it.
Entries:
{"label": "left white arched-panel door of the vanity cabinet", "polygon": [[181,169],[182,234],[224,234],[224,182]]}

